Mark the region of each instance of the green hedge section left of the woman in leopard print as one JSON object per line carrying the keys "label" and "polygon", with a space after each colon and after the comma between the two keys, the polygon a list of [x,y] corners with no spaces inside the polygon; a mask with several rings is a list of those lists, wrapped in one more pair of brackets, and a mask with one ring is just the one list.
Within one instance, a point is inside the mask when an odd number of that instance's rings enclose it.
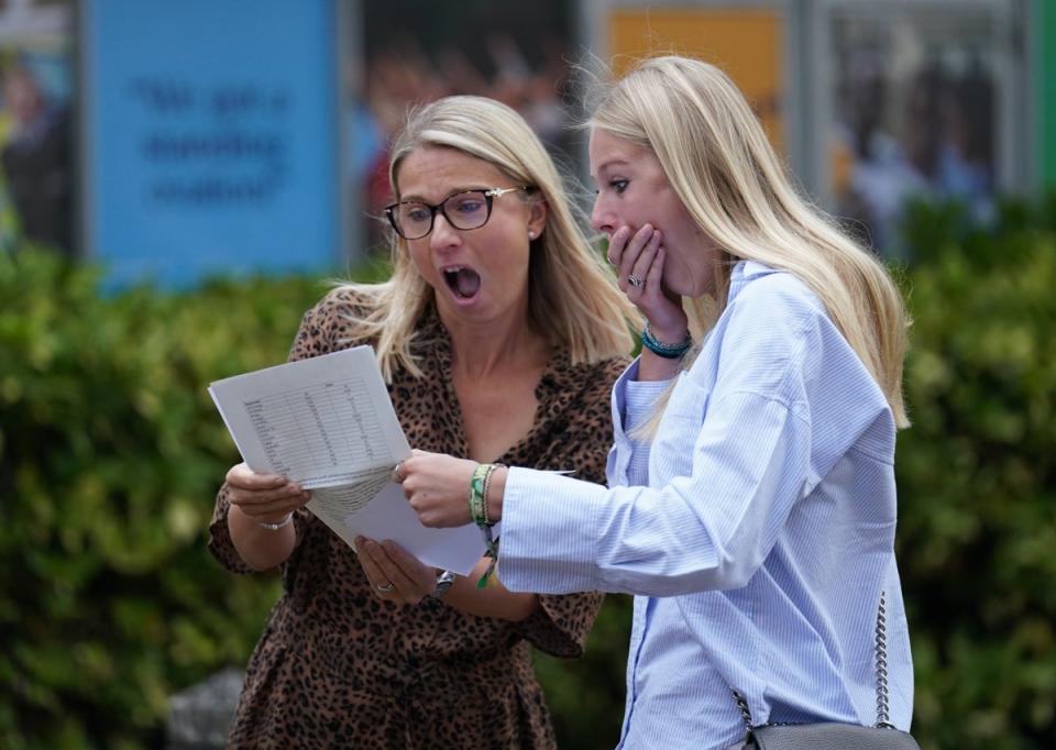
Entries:
{"label": "green hedge section left of the woman in leopard print", "polygon": [[277,582],[221,571],[237,460],[206,386],[274,364],[323,291],[300,279],[97,294],[0,254],[0,747],[157,746],[167,696],[244,663]]}

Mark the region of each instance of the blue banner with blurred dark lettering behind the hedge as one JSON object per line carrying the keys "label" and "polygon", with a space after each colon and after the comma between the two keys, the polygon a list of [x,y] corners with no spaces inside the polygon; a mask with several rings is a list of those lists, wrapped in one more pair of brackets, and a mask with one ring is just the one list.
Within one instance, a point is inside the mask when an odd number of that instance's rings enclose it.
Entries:
{"label": "blue banner with blurred dark lettering behind the hedge", "polygon": [[111,283],[338,266],[333,2],[84,3],[85,244]]}

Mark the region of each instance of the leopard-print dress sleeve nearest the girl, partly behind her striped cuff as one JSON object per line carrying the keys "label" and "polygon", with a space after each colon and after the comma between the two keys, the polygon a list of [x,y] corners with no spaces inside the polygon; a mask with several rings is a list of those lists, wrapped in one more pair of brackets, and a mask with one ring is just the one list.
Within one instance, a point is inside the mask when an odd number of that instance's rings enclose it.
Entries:
{"label": "leopard-print dress sleeve nearest the girl, partly behind her striped cuff", "polygon": [[[612,443],[609,395],[624,364],[626,361],[620,360],[595,367],[582,397],[568,406],[564,440],[556,443],[559,448],[546,456],[547,467],[575,468],[578,476],[591,482],[604,479]],[[598,415],[601,419],[596,418]],[[502,576],[502,549],[498,559]],[[580,657],[604,598],[598,592],[540,594],[539,609],[519,622],[518,628],[540,651],[564,659]]]}

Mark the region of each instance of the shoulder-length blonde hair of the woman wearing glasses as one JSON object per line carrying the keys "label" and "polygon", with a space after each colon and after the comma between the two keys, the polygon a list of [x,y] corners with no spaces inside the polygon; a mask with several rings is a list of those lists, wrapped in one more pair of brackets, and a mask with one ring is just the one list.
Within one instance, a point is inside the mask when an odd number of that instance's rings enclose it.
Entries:
{"label": "shoulder-length blonde hair of the woman wearing glasses", "polygon": [[[580,230],[557,167],[528,123],[509,107],[484,97],[447,97],[411,111],[389,158],[394,196],[399,196],[400,164],[426,147],[454,148],[483,159],[515,185],[535,188],[527,200],[546,201],[546,227],[531,242],[529,324],[568,349],[573,364],[629,353],[635,309]],[[387,282],[356,286],[370,291],[376,305],[363,318],[350,320],[350,338],[376,340],[386,382],[392,382],[397,366],[421,376],[411,342],[433,295],[410,260],[406,241],[395,232],[392,253]]]}

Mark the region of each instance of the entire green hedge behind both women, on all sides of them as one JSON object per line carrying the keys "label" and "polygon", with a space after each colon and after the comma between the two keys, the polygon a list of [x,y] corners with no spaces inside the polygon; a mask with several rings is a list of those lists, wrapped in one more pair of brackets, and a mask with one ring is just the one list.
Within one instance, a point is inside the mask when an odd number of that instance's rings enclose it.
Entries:
{"label": "entire green hedge behind both women, on all sides of them", "polygon": [[[1056,200],[988,230],[919,207],[899,441],[899,552],[928,748],[1056,734]],[[166,698],[243,665],[274,576],[205,549],[237,454],[205,390],[274,364],[326,289],[254,278],[100,295],[90,269],[0,254],[0,747],[147,748]],[[575,662],[537,660],[564,748],[612,747],[629,599]]]}

